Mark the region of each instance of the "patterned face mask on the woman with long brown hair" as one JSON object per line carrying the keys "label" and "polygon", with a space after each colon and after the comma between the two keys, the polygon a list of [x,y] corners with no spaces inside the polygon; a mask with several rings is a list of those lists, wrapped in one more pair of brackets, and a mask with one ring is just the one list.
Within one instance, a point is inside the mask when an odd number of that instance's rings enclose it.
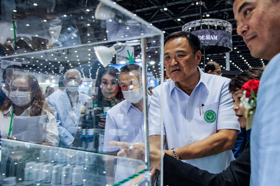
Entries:
{"label": "patterned face mask on the woman with long brown hair", "polygon": [[[32,91],[33,92],[33,91]],[[12,91],[9,94],[9,99],[17,106],[22,107],[31,102],[31,92]]]}

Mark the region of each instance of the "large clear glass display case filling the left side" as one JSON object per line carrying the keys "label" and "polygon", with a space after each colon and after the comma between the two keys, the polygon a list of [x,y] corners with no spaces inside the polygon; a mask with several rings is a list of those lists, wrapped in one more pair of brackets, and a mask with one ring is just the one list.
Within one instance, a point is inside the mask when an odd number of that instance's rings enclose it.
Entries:
{"label": "large clear glass display case filling the left side", "polygon": [[[92,185],[129,185],[146,171],[148,88],[163,79],[162,31],[109,0],[2,0],[0,30],[1,135],[30,142],[3,139],[1,176],[25,184],[25,164],[41,151],[92,155]],[[145,143],[145,163],[113,157],[120,149],[112,140]]]}

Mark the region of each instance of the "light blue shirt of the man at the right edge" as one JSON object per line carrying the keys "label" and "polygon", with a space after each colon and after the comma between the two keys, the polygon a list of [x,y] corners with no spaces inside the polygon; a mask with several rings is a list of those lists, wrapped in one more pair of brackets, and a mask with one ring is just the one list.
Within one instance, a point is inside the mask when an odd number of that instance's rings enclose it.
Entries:
{"label": "light blue shirt of the man at the right edge", "polygon": [[280,53],[260,80],[251,129],[251,185],[280,185]]}

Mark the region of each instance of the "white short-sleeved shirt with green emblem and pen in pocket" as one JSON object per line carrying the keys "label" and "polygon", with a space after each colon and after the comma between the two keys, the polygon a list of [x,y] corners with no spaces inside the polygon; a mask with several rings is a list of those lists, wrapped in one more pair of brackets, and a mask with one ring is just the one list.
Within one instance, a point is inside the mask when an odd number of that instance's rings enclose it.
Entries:
{"label": "white short-sleeved shirt with green emblem and pen in pocket", "polygon": [[[239,122],[234,114],[231,94],[228,91],[230,79],[206,74],[199,69],[200,79],[189,96],[177,83],[168,79],[153,89],[149,110],[149,135],[160,135],[160,109],[163,109],[163,125],[166,136],[166,149],[186,146],[212,134],[220,129],[240,131]],[[216,114],[213,122],[204,119],[203,112],[212,110]],[[200,108],[200,110],[199,110]],[[209,118],[208,118],[209,120]],[[211,120],[211,121],[212,121]],[[232,151],[183,160],[210,173],[219,173],[234,160]]]}

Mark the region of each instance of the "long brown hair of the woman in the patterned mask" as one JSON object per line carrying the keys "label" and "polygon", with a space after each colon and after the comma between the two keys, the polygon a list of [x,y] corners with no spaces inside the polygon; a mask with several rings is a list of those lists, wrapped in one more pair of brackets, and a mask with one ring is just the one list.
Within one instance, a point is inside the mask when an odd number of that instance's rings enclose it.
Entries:
{"label": "long brown hair of the woman in the patterned mask", "polygon": [[[46,104],[44,105],[45,98],[41,92],[41,88],[38,84],[37,79],[31,74],[19,74],[13,79],[13,81],[15,81],[15,79],[17,78],[26,79],[29,86],[31,87],[31,91],[34,91],[34,97],[31,99],[30,116],[45,115],[46,113],[42,113],[42,110],[51,112],[48,109],[48,106]],[[9,98],[6,98],[2,107],[0,108],[0,111],[6,112],[12,104],[13,102]]]}

